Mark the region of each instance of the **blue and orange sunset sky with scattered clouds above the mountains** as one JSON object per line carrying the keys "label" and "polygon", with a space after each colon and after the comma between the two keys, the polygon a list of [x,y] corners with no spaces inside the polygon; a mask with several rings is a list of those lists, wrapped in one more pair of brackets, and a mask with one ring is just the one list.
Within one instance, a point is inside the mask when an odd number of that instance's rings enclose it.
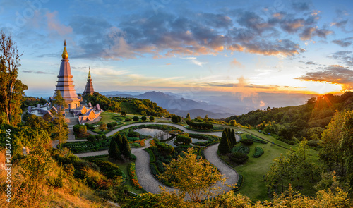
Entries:
{"label": "blue and orange sunset sky with scattered clouds above the mountains", "polygon": [[54,92],[64,39],[78,93],[89,67],[97,92],[243,99],[353,88],[351,0],[0,2],[32,96]]}

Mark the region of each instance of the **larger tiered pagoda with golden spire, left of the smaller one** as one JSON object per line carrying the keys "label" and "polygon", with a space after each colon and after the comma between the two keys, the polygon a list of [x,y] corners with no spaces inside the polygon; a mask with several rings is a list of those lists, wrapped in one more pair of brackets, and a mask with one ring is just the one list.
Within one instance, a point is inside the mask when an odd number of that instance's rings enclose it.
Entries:
{"label": "larger tiered pagoda with golden spire, left of the smaller one", "polygon": [[73,75],[71,75],[70,63],[68,63],[66,41],[64,41],[64,51],[61,56],[63,59],[61,59],[56,90],[60,90],[61,96],[65,99],[66,104],[68,104],[68,109],[77,109],[80,107],[81,98],[77,96],[74,88],[75,85],[73,85]]}

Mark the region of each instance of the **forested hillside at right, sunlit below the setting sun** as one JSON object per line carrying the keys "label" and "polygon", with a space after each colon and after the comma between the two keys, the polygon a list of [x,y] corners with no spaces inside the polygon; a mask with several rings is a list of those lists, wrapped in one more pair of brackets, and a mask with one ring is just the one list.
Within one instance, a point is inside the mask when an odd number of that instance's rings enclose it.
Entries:
{"label": "forested hillside at right, sunlit below the setting sun", "polygon": [[225,121],[235,120],[241,125],[258,127],[269,133],[279,133],[280,129],[285,127],[292,130],[295,136],[310,140],[316,136],[320,137],[336,111],[352,109],[353,92],[345,92],[340,96],[325,94],[321,97],[312,97],[301,106],[272,109],[268,107],[250,111],[240,116],[230,116],[225,118]]}

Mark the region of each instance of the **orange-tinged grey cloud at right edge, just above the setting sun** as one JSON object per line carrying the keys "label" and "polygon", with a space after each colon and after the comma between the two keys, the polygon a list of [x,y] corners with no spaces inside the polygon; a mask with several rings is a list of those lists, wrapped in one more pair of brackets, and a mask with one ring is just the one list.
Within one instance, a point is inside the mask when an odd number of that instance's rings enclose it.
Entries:
{"label": "orange-tinged grey cloud at right edge, just above the setting sun", "polygon": [[353,89],[353,71],[339,65],[331,65],[321,71],[306,72],[305,75],[295,79],[341,85],[342,90]]}

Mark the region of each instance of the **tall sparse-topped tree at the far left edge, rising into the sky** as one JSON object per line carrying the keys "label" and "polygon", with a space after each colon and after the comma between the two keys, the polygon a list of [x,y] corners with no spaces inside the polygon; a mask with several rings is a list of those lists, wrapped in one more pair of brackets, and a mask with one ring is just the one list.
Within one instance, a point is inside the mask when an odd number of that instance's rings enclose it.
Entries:
{"label": "tall sparse-topped tree at the far left edge, rising into the sky", "polygon": [[28,87],[17,78],[22,54],[18,54],[10,35],[6,36],[2,31],[0,35],[0,111],[6,113],[8,123],[16,126],[20,122],[20,105]]}

